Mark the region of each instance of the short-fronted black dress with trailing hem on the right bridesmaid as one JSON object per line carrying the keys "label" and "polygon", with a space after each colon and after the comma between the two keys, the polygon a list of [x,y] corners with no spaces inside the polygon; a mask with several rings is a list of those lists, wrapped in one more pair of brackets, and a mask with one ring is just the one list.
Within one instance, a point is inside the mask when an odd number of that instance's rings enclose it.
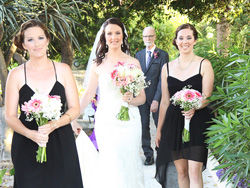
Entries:
{"label": "short-fronted black dress with trailing hem on the right bridesmaid", "polygon": [[[202,61],[200,63],[200,70]],[[199,74],[184,81],[168,76],[167,82],[170,97],[187,85],[191,85],[192,89],[202,93],[202,76],[200,70]],[[169,70],[167,71],[169,72]],[[178,159],[202,162],[204,167],[207,163],[208,150],[207,144],[205,143],[207,139],[205,132],[210,126],[208,123],[211,121],[210,111],[207,107],[195,111],[190,121],[190,141],[185,143],[182,142],[184,116],[181,111],[183,111],[183,109],[180,109],[180,106],[174,106],[170,103],[161,130],[161,142],[157,149],[156,179],[163,188],[167,187],[166,171],[168,163]]]}

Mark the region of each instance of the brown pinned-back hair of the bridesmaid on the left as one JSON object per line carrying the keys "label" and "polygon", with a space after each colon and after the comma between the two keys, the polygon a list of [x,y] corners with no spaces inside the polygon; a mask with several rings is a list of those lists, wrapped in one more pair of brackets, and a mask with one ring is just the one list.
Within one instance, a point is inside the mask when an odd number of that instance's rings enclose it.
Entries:
{"label": "brown pinned-back hair of the bridesmaid on the left", "polygon": [[20,31],[14,36],[13,42],[14,44],[20,49],[20,50],[25,50],[23,48],[23,42],[24,42],[24,32],[31,28],[31,27],[40,27],[44,33],[47,39],[49,39],[49,32],[47,27],[39,20],[28,20],[24,22],[21,25]]}

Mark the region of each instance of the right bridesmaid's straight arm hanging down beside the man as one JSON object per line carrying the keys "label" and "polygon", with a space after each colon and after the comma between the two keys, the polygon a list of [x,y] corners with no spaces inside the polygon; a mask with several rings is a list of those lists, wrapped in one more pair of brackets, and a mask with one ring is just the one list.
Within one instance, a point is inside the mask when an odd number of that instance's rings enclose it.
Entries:
{"label": "right bridesmaid's straight arm hanging down beside the man", "polygon": [[156,146],[159,147],[160,140],[161,140],[161,129],[165,121],[166,112],[168,106],[170,104],[170,96],[168,91],[168,82],[167,82],[167,64],[162,67],[161,73],[161,104],[160,104],[160,111],[159,111],[159,120],[157,125],[157,132],[156,132]]}

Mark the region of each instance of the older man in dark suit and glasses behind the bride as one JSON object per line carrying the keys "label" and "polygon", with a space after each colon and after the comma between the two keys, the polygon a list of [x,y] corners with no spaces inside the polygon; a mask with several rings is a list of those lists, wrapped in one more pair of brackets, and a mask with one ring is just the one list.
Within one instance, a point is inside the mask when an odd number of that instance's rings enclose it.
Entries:
{"label": "older man in dark suit and glasses behind the bride", "polygon": [[142,121],[142,149],[146,157],[145,165],[152,165],[154,163],[154,152],[150,144],[150,112],[152,112],[155,125],[157,126],[161,100],[161,69],[169,61],[168,53],[157,48],[155,40],[156,34],[154,28],[151,26],[144,28],[143,41],[146,48],[135,55],[135,58],[141,64],[146,81],[151,81],[149,87],[145,89],[146,102],[139,106]]}

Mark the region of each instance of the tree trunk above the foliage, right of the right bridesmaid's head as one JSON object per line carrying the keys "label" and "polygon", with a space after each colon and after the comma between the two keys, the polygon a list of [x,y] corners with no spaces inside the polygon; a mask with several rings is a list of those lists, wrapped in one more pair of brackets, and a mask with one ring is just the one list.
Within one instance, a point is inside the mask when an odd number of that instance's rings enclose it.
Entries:
{"label": "tree trunk above the foliage, right of the right bridesmaid's head", "polygon": [[217,24],[217,49],[218,52],[227,55],[228,53],[228,40],[230,35],[230,24],[223,16]]}

